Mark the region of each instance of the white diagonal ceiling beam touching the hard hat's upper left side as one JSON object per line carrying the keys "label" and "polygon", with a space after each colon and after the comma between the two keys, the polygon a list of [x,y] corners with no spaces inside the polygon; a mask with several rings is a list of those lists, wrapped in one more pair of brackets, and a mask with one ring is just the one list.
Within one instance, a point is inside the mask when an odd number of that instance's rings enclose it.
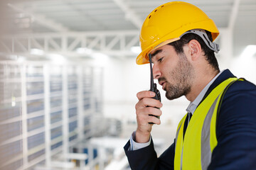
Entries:
{"label": "white diagonal ceiling beam touching the hard hat's upper left side", "polygon": [[117,4],[117,6],[119,6],[119,8],[122,9],[122,11],[124,11],[125,18],[131,21],[134,24],[134,26],[136,26],[137,28],[140,29],[142,27],[143,21],[136,15],[134,10],[129,8],[129,6],[124,3],[124,1],[122,0],[113,0],[113,1],[115,4]]}

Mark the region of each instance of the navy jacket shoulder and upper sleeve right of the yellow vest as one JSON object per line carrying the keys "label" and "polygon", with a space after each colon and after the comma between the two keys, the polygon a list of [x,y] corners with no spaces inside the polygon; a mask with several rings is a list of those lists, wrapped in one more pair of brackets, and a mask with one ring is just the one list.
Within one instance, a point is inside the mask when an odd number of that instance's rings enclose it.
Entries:
{"label": "navy jacket shoulder and upper sleeve right of the yellow vest", "polygon": [[208,169],[255,169],[255,84],[250,81],[235,81],[228,88],[220,106],[216,126],[218,145],[213,149]]}

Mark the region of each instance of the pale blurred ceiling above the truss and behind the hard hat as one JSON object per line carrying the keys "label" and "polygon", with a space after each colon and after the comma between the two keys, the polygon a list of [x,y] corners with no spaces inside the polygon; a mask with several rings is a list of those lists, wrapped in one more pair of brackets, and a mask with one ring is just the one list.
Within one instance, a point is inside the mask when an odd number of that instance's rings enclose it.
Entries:
{"label": "pale blurred ceiling above the truss and behind the hard hat", "polygon": [[[1,33],[139,33],[144,18],[163,0],[1,0]],[[220,30],[233,30],[233,55],[256,45],[255,0],[191,0]],[[139,39],[139,38],[138,38]]]}

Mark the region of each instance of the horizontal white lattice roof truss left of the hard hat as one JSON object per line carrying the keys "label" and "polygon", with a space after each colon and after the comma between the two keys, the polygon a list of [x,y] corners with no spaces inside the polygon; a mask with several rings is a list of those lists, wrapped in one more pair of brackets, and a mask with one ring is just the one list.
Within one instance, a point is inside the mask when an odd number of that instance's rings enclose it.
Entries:
{"label": "horizontal white lattice roof truss left of the hard hat", "polygon": [[79,48],[117,54],[139,45],[139,31],[38,33],[6,35],[0,39],[0,51],[6,54],[30,54],[31,49],[44,52],[77,52]]}

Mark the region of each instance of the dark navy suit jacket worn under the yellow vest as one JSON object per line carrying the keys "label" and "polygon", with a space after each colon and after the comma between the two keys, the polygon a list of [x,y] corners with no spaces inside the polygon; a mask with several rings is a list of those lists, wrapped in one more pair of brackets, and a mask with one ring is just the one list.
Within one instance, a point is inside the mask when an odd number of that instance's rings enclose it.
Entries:
{"label": "dark navy suit jacket worn under the yellow vest", "polygon": [[[215,79],[206,92],[230,77],[228,69]],[[217,120],[218,145],[213,149],[208,170],[256,169],[256,86],[249,81],[236,81],[226,92]],[[152,140],[151,140],[152,141]],[[174,169],[175,142],[158,158],[153,141],[148,147],[129,151],[124,146],[132,169]]]}

